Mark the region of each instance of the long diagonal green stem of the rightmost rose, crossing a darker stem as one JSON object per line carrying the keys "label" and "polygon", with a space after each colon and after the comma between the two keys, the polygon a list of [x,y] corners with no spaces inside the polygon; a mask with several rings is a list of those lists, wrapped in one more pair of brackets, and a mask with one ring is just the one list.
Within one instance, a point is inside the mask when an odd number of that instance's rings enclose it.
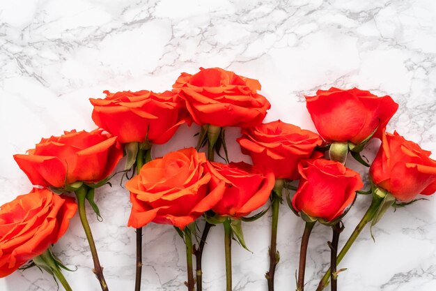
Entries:
{"label": "long diagonal green stem of the rightmost rose, crossing a darker stem", "polygon": [[[371,202],[370,207],[366,211],[364,217],[361,218],[361,221],[356,226],[355,230],[352,232],[352,234],[348,238],[348,241],[345,242],[345,245],[343,246],[341,252],[339,253],[338,258],[337,258],[337,262],[336,262],[337,264],[339,264],[341,262],[341,260],[343,259],[343,257],[345,257],[345,254],[348,252],[348,250],[350,250],[352,244],[356,241],[357,237],[359,237],[359,234],[364,229],[365,225],[368,222],[373,220],[375,214],[377,214],[377,210],[380,207],[380,204],[382,203],[382,201],[383,201],[382,198],[373,196],[373,201]],[[324,276],[322,277],[322,279],[318,285],[318,288],[316,288],[316,291],[321,291],[327,287],[331,274],[332,274],[332,271],[330,269],[328,269],[325,272]]]}

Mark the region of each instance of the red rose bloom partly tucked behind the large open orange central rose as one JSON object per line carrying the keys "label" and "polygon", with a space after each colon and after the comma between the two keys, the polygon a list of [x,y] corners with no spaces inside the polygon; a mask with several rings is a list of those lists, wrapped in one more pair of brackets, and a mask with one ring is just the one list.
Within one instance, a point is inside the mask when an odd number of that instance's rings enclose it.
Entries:
{"label": "red rose bloom partly tucked behind the large open orange central rose", "polygon": [[270,170],[244,162],[212,162],[209,167],[212,173],[210,188],[218,187],[223,181],[226,186],[224,196],[212,207],[221,216],[247,216],[267,202],[274,188],[274,174]]}

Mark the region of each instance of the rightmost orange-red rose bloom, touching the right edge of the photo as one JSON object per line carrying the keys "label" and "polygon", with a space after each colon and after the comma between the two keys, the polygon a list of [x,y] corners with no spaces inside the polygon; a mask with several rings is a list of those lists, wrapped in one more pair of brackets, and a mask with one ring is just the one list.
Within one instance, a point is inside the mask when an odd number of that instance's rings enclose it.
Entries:
{"label": "rightmost orange-red rose bloom, touching the right edge of the photo", "polygon": [[398,133],[386,133],[369,169],[370,178],[400,201],[420,193],[431,195],[436,192],[436,161],[430,155]]}

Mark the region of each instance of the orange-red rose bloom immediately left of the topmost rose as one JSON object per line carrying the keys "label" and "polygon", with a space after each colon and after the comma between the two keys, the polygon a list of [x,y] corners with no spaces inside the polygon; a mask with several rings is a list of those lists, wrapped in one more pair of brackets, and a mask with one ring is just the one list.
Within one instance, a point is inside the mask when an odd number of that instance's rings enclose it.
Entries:
{"label": "orange-red rose bloom immediately left of the topmost rose", "polygon": [[106,98],[90,98],[93,121],[118,137],[121,143],[164,144],[187,121],[184,104],[171,91],[104,91]]}

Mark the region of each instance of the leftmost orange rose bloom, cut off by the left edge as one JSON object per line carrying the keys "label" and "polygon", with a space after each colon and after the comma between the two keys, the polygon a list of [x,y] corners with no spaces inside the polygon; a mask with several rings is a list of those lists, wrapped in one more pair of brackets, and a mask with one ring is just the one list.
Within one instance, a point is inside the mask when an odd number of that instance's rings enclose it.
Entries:
{"label": "leftmost orange rose bloom, cut off by the left edge", "polygon": [[44,253],[65,233],[77,211],[72,197],[33,188],[0,207],[0,277]]}

